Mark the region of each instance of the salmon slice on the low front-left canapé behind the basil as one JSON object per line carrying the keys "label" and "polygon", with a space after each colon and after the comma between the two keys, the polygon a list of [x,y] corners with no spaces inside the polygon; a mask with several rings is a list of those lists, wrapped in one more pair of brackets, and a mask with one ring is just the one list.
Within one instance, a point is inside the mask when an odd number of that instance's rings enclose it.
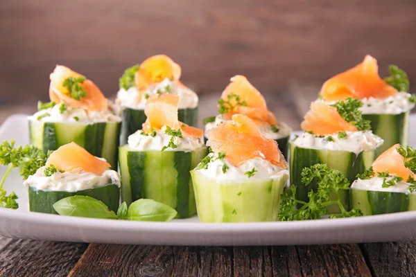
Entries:
{"label": "salmon slice on the low front-left canap\u00e9 behind the basil", "polygon": [[53,151],[46,161],[46,167],[55,166],[58,170],[71,171],[80,168],[85,172],[101,175],[111,167],[110,163],[103,159],[94,157],[87,150],[76,143],[62,145]]}

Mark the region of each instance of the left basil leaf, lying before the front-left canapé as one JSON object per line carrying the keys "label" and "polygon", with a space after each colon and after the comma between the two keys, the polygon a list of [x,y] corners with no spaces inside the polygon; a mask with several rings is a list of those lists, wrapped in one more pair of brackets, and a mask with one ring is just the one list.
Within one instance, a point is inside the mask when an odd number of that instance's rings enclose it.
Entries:
{"label": "left basil leaf, lying before the front-left canap\u00e9", "polygon": [[110,211],[103,202],[83,195],[75,195],[60,199],[53,204],[53,208],[55,208],[55,211],[60,215],[107,218],[112,220],[117,218],[116,213]]}

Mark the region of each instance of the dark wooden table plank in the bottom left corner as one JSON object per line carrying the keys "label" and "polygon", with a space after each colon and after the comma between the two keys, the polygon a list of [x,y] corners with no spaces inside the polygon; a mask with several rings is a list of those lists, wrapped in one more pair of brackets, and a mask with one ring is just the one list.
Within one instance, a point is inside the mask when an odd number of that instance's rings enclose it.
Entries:
{"label": "dark wooden table plank in the bottom left corner", "polygon": [[87,244],[0,237],[0,276],[67,276]]}

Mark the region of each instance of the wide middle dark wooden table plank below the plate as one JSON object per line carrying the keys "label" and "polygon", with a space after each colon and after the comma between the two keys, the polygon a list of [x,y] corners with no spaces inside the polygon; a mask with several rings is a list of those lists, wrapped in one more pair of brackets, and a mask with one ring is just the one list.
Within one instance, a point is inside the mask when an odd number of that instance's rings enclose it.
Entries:
{"label": "wide middle dark wooden table plank below the plate", "polygon": [[371,276],[358,244],[159,247],[90,244],[69,276]]}

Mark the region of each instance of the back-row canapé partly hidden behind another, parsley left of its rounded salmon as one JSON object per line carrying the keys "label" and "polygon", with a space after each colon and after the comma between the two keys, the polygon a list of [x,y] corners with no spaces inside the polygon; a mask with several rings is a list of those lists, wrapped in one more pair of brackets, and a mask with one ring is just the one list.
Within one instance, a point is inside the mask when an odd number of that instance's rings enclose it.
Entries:
{"label": "back-row canap\u00e9 partly hidden behind another, parsley left of its rounded salmon", "polygon": [[144,108],[150,96],[173,94],[180,96],[178,117],[187,125],[198,123],[198,96],[180,82],[181,68],[166,55],[149,57],[141,64],[126,69],[119,82],[116,103],[122,111],[121,145],[128,136],[141,129],[146,121]]}

